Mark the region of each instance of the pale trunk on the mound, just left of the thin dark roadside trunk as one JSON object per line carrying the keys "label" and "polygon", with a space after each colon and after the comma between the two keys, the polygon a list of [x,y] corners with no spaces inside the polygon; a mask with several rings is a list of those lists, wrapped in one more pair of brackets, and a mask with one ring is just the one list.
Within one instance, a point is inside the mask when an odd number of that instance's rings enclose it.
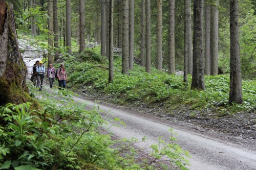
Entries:
{"label": "pale trunk on the mound, just left of the thin dark roadside trunk", "polygon": [[101,34],[100,34],[100,54],[106,56],[106,3],[101,0]]}

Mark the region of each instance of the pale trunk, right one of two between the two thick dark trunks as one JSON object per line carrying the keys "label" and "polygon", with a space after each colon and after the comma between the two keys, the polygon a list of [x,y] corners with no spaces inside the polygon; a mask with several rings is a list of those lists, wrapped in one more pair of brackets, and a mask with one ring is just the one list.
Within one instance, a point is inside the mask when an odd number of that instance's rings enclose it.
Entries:
{"label": "pale trunk, right one of two between the two thick dark trunks", "polygon": [[219,41],[219,0],[215,0],[215,5],[211,6],[211,32],[210,32],[210,74],[218,75],[218,41]]}

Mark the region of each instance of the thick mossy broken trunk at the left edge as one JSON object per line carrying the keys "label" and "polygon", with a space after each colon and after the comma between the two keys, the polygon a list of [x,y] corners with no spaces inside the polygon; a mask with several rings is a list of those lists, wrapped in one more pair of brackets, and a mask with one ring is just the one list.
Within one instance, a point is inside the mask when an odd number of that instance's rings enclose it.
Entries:
{"label": "thick mossy broken trunk at the left edge", "polygon": [[20,56],[13,5],[0,1],[0,106],[33,102],[26,85],[27,67]]}

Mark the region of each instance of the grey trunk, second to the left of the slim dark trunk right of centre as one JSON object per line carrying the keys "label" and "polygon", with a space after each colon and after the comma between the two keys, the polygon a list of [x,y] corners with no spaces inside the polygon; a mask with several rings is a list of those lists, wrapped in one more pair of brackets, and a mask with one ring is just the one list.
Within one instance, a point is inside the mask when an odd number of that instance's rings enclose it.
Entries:
{"label": "grey trunk, second to the left of the slim dark trunk right of centre", "polygon": [[157,0],[157,57],[156,68],[162,70],[162,0]]}

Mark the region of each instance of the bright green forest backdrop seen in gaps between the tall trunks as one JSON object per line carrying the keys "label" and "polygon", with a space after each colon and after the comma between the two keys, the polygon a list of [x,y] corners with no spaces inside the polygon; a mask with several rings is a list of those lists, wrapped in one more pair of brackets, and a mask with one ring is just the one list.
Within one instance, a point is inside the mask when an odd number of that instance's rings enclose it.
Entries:
{"label": "bright green forest backdrop seen in gaps between the tall trunks", "polygon": [[[9,1],[14,4],[16,23],[19,30],[34,36],[47,35],[48,33],[48,3],[46,0]],[[84,1],[84,20],[86,43],[101,43],[101,5],[104,1]],[[141,59],[141,4],[144,1],[135,1],[134,4],[134,55]],[[185,1],[175,2],[175,70],[183,70],[184,58],[184,4]],[[218,1],[217,1],[218,2]],[[53,1],[54,43],[55,50],[61,51],[67,45],[66,40],[66,1]],[[71,1],[71,36],[72,40],[79,44],[79,1]],[[193,9],[193,1],[190,8]],[[216,1],[204,1],[216,6]],[[255,78],[255,1],[239,1],[239,32],[240,32],[240,55],[242,63],[242,78]],[[57,10],[56,10],[57,9]],[[229,73],[230,39],[229,39],[229,3],[219,1],[218,5],[218,72]],[[212,15],[212,14],[211,14]],[[157,56],[157,1],[151,1],[151,63],[156,65]],[[193,10],[191,10],[193,18]],[[169,2],[162,1],[162,68],[168,69],[168,21]],[[205,19],[204,19],[205,20]],[[193,23],[191,26],[193,30]],[[34,30],[34,31],[33,31]],[[33,33],[34,32],[34,33]],[[193,31],[192,31],[193,34]],[[58,36],[58,37],[56,37]],[[193,37],[193,36],[192,36]],[[114,46],[122,47],[122,1],[114,1]],[[72,45],[72,52],[78,52],[79,48]]]}

